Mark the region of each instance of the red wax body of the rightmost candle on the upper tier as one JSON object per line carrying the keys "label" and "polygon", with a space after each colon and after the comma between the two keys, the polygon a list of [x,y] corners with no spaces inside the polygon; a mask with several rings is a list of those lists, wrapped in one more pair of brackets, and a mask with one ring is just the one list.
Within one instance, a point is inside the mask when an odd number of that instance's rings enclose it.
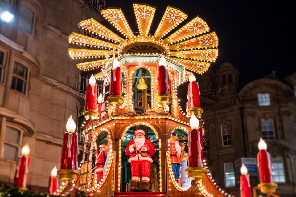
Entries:
{"label": "red wax body of the rightmost candle on the upper tier", "polygon": [[193,107],[200,108],[200,91],[198,83],[193,81],[188,84],[188,94],[187,94],[188,102],[187,102],[187,110]]}

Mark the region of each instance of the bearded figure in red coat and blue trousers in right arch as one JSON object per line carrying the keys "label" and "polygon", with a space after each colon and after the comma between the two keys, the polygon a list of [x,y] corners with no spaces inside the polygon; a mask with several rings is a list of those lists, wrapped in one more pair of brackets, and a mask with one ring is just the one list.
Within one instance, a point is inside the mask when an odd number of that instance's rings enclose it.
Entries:
{"label": "bearded figure in red coat and blue trousers in right arch", "polygon": [[180,167],[182,166],[181,152],[182,148],[179,144],[178,134],[173,132],[170,141],[170,158],[176,182],[178,182]]}

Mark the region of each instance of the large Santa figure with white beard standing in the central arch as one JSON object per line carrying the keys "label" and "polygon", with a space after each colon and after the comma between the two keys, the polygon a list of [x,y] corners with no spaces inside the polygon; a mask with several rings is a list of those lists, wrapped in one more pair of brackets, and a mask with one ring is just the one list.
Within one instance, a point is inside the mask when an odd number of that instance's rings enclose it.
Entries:
{"label": "large Santa figure with white beard standing in the central arch", "polygon": [[[150,165],[155,147],[149,139],[145,139],[145,131],[137,129],[134,131],[134,139],[125,148],[125,154],[130,155],[130,165],[132,173],[132,191],[149,191]],[[142,186],[139,188],[141,176]]]}

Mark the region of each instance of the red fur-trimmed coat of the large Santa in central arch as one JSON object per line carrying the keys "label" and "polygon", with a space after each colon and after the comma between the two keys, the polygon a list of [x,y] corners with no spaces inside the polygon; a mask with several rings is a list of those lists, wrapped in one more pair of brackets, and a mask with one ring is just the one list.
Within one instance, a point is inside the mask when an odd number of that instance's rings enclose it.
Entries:
{"label": "red fur-trimmed coat of the large Santa in central arch", "polygon": [[130,155],[129,162],[131,162],[131,161],[149,161],[150,163],[152,163],[151,155],[154,155],[154,153],[155,153],[155,147],[153,146],[152,142],[149,139],[145,139],[145,143],[143,145],[143,147],[147,148],[147,151],[150,152],[150,154],[135,153],[136,149],[133,147],[134,143],[135,143],[134,139],[130,140],[130,142],[127,144],[127,146],[125,148],[125,154]]}

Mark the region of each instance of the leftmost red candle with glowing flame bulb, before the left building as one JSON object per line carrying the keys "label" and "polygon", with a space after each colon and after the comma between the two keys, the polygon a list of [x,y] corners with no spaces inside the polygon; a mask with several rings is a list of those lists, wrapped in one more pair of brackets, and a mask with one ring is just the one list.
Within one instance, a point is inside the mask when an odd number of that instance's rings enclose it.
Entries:
{"label": "leftmost red candle with glowing flame bulb, before the left building", "polygon": [[18,185],[20,189],[27,190],[27,178],[29,172],[29,163],[30,163],[30,148],[29,144],[26,143],[21,150],[21,157],[18,159],[16,166],[16,171],[14,175],[14,183]]}

